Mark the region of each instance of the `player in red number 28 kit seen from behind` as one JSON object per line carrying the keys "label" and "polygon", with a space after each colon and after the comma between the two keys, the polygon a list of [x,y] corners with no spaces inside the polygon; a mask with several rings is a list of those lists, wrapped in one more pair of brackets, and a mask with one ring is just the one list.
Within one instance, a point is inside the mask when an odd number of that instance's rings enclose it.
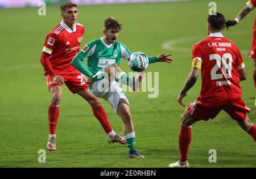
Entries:
{"label": "player in red number 28 kit seen from behind", "polygon": [[246,79],[245,65],[240,50],[234,42],[222,36],[225,29],[224,15],[217,13],[208,17],[209,37],[197,42],[192,49],[192,70],[177,101],[182,99],[196,83],[201,70],[202,88],[200,96],[189,104],[180,117],[180,159],[169,167],[189,167],[188,148],[191,142],[191,125],[197,121],[213,119],[221,110],[236,120],[256,142],[256,126],[246,113],[251,110],[241,99],[240,80]]}

